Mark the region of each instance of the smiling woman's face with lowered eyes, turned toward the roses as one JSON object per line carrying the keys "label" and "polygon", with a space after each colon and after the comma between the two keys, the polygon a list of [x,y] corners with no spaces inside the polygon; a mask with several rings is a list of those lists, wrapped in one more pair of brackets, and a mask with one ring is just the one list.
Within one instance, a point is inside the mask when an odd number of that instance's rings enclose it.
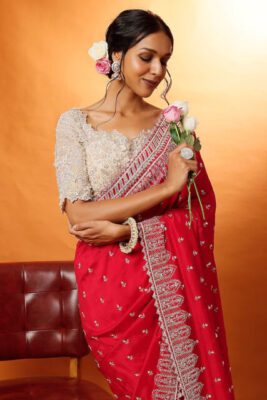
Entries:
{"label": "smiling woman's face with lowered eyes, turned toward the roses", "polygon": [[171,54],[172,44],[166,33],[146,36],[125,54],[125,84],[138,96],[149,97],[164,78]]}

